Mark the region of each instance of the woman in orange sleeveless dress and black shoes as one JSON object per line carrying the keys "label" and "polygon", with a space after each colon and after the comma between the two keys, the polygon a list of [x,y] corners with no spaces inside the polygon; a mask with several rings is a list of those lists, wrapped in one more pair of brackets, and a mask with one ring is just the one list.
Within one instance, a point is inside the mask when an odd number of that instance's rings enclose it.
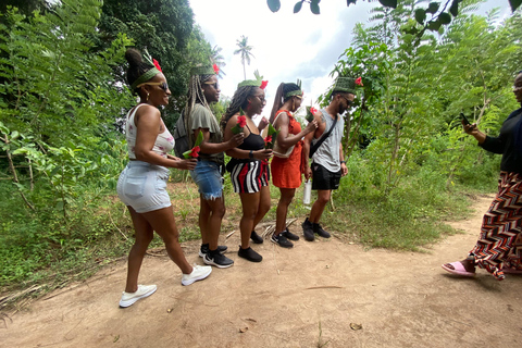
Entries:
{"label": "woman in orange sleeveless dress and black shoes", "polygon": [[[286,214],[296,194],[296,188],[301,185],[301,150],[302,138],[318,128],[318,122],[313,120],[301,130],[301,125],[291,114],[301,105],[302,90],[297,84],[282,83],[275,94],[275,101],[270,114],[270,123],[279,130],[277,134],[277,147],[283,152],[290,151],[289,156],[274,152],[271,163],[272,184],[279,188],[281,197],[277,203],[275,232],[271,241],[283,248],[291,248],[290,240],[299,240],[299,236],[290,233],[286,227]],[[288,240],[290,239],[290,240]]]}

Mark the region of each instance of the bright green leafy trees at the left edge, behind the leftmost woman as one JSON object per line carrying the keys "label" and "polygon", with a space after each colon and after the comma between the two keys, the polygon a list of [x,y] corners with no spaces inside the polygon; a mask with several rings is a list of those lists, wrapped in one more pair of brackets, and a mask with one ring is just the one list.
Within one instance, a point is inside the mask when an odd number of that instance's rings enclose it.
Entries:
{"label": "bright green leafy trees at the left edge, behind the leftmost woman", "polygon": [[[100,145],[113,141],[112,124],[132,104],[113,78],[130,41],[117,36],[108,49],[92,51],[100,13],[101,1],[69,0],[30,17],[16,9],[2,14],[0,145],[14,163],[0,159],[0,166],[10,167],[36,210],[58,208],[66,216],[78,184],[95,171],[102,177]],[[34,185],[49,199],[46,206],[30,202]]]}

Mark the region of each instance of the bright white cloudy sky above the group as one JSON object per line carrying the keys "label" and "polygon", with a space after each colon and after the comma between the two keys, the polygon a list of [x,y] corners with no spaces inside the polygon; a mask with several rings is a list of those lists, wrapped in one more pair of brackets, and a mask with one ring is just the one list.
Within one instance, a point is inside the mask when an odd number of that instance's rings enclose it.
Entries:
{"label": "bright white cloudy sky above the group", "polygon": [[[244,80],[237,40],[248,38],[253,58],[246,66],[247,79],[253,79],[256,70],[269,80],[265,89],[268,104],[262,115],[272,110],[273,97],[281,83],[302,82],[304,104],[309,105],[332,85],[330,73],[339,55],[351,44],[356,23],[368,24],[374,1],[359,0],[346,5],[345,0],[322,1],[321,14],[314,15],[308,3],[299,13],[293,9],[297,0],[281,0],[281,9],[272,13],[266,0],[189,0],[195,22],[212,47],[222,48],[226,74],[220,79],[221,95],[232,98],[237,84]],[[477,14],[500,8],[500,20],[509,16],[508,0],[487,0]]]}

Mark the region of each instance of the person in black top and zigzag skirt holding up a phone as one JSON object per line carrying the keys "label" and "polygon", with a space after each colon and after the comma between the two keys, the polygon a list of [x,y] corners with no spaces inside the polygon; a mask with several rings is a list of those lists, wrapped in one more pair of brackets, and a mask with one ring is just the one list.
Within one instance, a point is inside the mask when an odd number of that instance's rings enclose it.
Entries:
{"label": "person in black top and zigzag skirt holding up a phone", "polygon": [[[513,92],[522,107],[522,72],[514,79]],[[496,138],[478,130],[476,124],[462,122],[462,125],[483,149],[502,154],[500,178],[497,196],[484,214],[476,245],[467,259],[445,263],[443,269],[461,276],[474,276],[478,266],[499,281],[506,273],[522,274],[522,108],[508,116]]]}

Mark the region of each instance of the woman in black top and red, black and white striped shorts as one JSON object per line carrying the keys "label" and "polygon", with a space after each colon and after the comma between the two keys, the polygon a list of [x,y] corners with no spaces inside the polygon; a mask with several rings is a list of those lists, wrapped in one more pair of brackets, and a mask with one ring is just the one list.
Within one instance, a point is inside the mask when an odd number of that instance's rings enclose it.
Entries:
{"label": "woman in black top and red, black and white striped shorts", "polygon": [[269,159],[272,157],[272,150],[264,148],[264,139],[260,135],[268,125],[268,120],[263,117],[259,126],[252,121],[266,103],[264,99],[266,82],[261,80],[262,77],[257,74],[256,77],[257,79],[244,80],[237,86],[221,124],[225,141],[241,129],[245,134],[245,140],[240,146],[226,151],[226,154],[232,157],[226,169],[231,172],[234,191],[239,194],[243,207],[239,223],[241,245],[238,256],[251,262],[261,262],[263,258],[250,248],[250,238],[254,243],[263,243],[254,228],[270,210]]}

